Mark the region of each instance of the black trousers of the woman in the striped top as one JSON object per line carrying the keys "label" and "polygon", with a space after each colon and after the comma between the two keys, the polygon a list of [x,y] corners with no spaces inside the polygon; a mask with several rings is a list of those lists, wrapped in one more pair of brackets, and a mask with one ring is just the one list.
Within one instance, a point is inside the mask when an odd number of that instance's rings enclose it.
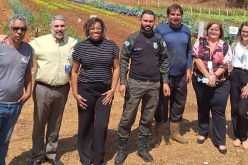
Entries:
{"label": "black trousers of the woman in the striped top", "polygon": [[102,104],[102,94],[110,88],[102,83],[78,84],[78,93],[87,100],[86,110],[78,106],[78,152],[83,165],[104,162],[111,104]]}

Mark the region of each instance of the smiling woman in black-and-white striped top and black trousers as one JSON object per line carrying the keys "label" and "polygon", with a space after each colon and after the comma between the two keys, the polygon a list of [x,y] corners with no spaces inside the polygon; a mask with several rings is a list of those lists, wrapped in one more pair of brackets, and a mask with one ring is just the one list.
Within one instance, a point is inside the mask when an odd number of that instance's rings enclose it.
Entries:
{"label": "smiling woman in black-and-white striped top and black trousers", "polygon": [[[73,52],[72,92],[78,103],[78,152],[82,164],[104,164],[110,109],[119,79],[119,48],[105,39],[100,18],[84,25],[86,40]],[[79,72],[79,73],[78,73]]]}

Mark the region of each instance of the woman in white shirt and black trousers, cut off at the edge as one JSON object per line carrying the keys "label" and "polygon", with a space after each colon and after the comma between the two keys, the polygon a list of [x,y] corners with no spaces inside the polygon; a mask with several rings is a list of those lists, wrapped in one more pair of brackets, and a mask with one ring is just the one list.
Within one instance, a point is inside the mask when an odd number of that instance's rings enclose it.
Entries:
{"label": "woman in white shirt and black trousers, cut off at the edge", "polygon": [[248,22],[241,25],[238,39],[233,44],[233,70],[231,82],[231,116],[235,140],[234,146],[241,144],[248,149]]}

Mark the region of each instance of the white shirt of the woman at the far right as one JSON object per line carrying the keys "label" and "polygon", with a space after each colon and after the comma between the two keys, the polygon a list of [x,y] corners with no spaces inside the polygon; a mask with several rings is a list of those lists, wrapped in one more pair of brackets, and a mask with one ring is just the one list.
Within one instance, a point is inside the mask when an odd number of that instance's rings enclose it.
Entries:
{"label": "white shirt of the woman at the far right", "polygon": [[232,66],[248,70],[248,48],[240,42],[233,48]]}

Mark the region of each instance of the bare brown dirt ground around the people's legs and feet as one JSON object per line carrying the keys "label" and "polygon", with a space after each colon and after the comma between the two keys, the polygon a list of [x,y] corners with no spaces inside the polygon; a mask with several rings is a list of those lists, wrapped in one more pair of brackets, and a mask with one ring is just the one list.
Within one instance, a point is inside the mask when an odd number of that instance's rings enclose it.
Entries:
{"label": "bare brown dirt ground around the people's legs and feet", "polygon": [[[121,116],[123,105],[123,98],[116,93],[114,100],[111,119],[109,123],[108,138],[106,142],[106,161],[112,165],[114,155],[116,153],[116,137],[117,125]],[[31,155],[32,146],[32,114],[33,103],[32,99],[24,106],[19,117],[18,123],[15,127],[7,157],[7,163],[10,165],[25,164],[25,159]],[[197,132],[197,115],[195,97],[192,87],[189,87],[189,95],[182,124],[182,132],[189,140],[189,144],[181,145],[171,141],[170,145],[161,145],[156,149],[152,149],[151,153],[154,156],[154,162],[148,164],[167,165],[198,165],[198,164],[229,164],[229,165],[247,165],[248,152],[242,148],[235,148],[232,145],[232,129],[230,124],[230,107],[227,108],[227,155],[221,155],[213,146],[210,138],[206,140],[203,145],[196,144]],[[129,155],[125,162],[126,165],[141,165],[145,164],[137,155],[137,127],[140,114],[138,114],[136,122],[132,129],[131,139],[128,143]],[[72,94],[70,94],[63,123],[60,131],[60,142],[58,157],[66,165],[79,165],[79,157],[77,153],[77,108],[76,102]],[[168,125],[165,126],[164,135],[168,136]]]}

